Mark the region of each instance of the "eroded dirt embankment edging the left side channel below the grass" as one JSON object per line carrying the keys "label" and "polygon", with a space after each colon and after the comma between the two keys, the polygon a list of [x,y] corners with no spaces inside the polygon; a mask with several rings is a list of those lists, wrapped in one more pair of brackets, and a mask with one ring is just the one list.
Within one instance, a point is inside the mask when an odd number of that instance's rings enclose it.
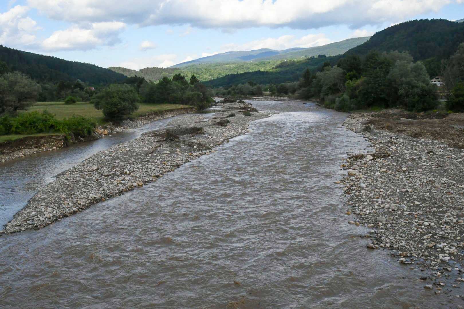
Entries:
{"label": "eroded dirt embankment edging the left side channel below the grass", "polygon": [[161,113],[148,114],[135,120],[126,120],[120,125],[99,126],[95,128],[94,134],[89,139],[66,140],[64,134],[29,136],[22,139],[15,139],[0,143],[0,162],[13,160],[32,155],[34,153],[60,149],[71,144],[84,141],[100,139],[105,135],[122,132],[141,127],[151,121],[173,117],[179,114],[192,114],[197,110],[194,107],[167,110]]}

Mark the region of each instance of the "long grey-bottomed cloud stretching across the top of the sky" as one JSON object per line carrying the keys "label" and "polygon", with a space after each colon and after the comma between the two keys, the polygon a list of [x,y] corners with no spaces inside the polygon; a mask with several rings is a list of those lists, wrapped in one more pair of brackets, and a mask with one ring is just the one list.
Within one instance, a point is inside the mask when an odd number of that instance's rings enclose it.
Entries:
{"label": "long grey-bottomed cloud stretching across the top of the sky", "polygon": [[[456,0],[462,3],[463,0]],[[257,26],[313,29],[379,25],[438,11],[451,0],[27,0],[45,16],[69,22],[123,21],[225,30]]]}

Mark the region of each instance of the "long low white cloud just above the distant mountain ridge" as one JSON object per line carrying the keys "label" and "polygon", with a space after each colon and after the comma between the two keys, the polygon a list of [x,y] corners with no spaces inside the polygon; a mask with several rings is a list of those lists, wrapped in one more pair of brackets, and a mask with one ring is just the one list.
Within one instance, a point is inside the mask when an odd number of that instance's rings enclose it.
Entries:
{"label": "long low white cloud just above the distant mountain ridge", "polygon": [[223,51],[258,50],[270,48],[273,50],[284,50],[292,47],[313,47],[329,44],[331,41],[325,34],[308,34],[302,38],[294,35],[284,35],[279,38],[262,38],[245,44],[225,44],[221,46]]}

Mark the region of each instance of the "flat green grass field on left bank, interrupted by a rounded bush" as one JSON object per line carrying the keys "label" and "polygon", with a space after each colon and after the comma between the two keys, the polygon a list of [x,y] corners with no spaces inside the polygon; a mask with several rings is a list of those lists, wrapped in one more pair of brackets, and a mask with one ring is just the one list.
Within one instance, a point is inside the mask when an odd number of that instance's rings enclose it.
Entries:
{"label": "flat green grass field on left bank, interrupted by a rounded bush", "polygon": [[[139,104],[139,109],[132,114],[132,117],[139,117],[154,112],[162,112],[170,109],[178,109],[188,107],[181,104]],[[95,109],[92,104],[87,102],[77,102],[76,104],[66,105],[64,102],[37,102],[30,107],[28,112],[42,112],[47,110],[49,113],[55,114],[58,119],[71,117],[72,115],[84,116],[97,122],[104,124],[105,120],[103,112]]]}

